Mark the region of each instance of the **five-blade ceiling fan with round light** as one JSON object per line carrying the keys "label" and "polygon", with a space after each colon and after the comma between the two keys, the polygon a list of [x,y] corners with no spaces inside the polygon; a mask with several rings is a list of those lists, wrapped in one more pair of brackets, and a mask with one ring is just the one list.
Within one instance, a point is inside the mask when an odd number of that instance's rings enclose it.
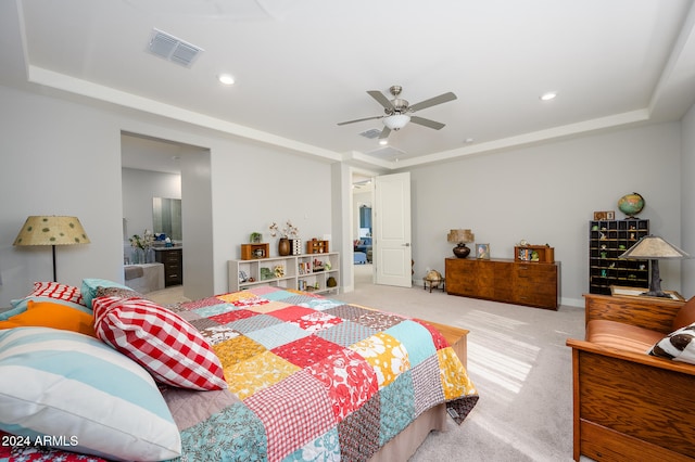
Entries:
{"label": "five-blade ceiling fan with round light", "polygon": [[434,130],[441,130],[442,128],[444,128],[444,124],[430,120],[429,118],[412,116],[410,114],[416,111],[431,107],[437,104],[446,103],[456,99],[456,95],[450,91],[448,93],[443,93],[439,97],[430,98],[429,100],[420,101],[417,104],[410,105],[406,100],[399,98],[401,91],[403,91],[403,87],[394,85],[389,88],[389,91],[393,95],[393,100],[389,100],[382,92],[378,90],[367,91],[367,94],[377,100],[377,102],[383,106],[384,115],[341,121],[338,125],[348,125],[354,124],[356,121],[374,120],[380,118],[384,125],[383,130],[381,130],[381,134],[379,136],[380,140],[389,138],[389,133],[391,133],[391,130],[397,131],[405,127],[408,121],[428,128],[433,128]]}

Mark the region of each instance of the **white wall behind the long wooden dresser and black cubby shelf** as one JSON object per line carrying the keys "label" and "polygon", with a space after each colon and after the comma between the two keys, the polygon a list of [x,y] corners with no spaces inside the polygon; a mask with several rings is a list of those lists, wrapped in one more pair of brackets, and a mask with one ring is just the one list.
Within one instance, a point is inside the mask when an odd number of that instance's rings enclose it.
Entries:
{"label": "white wall behind the long wooden dresser and black cubby shelf", "polygon": [[[522,239],[555,247],[563,303],[583,306],[594,210],[622,219],[617,202],[636,191],[646,201],[640,218],[680,244],[680,124],[670,123],[414,168],[415,280],[426,268],[443,273],[446,233],[470,228],[493,258],[514,258]],[[680,266],[660,268],[664,287],[680,291]]]}

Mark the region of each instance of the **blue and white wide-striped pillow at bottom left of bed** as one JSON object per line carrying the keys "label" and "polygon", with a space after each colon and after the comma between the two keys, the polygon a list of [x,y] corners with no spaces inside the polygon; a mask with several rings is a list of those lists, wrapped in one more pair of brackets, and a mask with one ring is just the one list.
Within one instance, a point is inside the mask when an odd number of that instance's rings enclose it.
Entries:
{"label": "blue and white wide-striped pillow at bottom left of bed", "polygon": [[144,369],[96,338],[48,328],[0,331],[0,429],[112,460],[181,453],[178,428]]}

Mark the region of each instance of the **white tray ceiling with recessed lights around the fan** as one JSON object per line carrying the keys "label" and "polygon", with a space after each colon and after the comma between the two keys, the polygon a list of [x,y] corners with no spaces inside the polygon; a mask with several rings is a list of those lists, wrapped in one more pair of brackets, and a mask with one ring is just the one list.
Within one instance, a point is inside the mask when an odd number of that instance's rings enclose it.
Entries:
{"label": "white tray ceiling with recessed lights around the fan", "polygon": [[[17,0],[15,9],[33,84],[383,168],[679,119],[695,102],[693,0]],[[204,51],[190,68],[154,56],[153,28]],[[220,73],[236,85],[220,85]],[[366,91],[392,85],[410,103],[456,93],[417,113],[446,127],[410,123],[384,153],[358,134],[380,120],[337,125],[381,115]],[[558,97],[543,102],[546,91]]]}

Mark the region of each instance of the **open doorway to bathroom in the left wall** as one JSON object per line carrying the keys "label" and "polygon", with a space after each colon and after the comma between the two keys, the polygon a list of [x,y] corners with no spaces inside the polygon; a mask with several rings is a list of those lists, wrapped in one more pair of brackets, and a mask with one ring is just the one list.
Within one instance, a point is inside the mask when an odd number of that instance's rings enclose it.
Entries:
{"label": "open doorway to bathroom in the left wall", "polygon": [[[166,232],[170,246],[155,246],[161,251],[155,256],[162,257],[155,257],[155,261],[164,265],[164,290],[182,288],[189,298],[212,294],[211,178],[201,175],[210,171],[210,150],[122,132],[121,158],[124,264],[134,234]],[[156,216],[157,201],[161,216]],[[163,203],[170,204],[166,213]],[[165,224],[164,218],[176,222]],[[165,228],[155,229],[159,224]],[[162,252],[167,255],[160,255]]]}

